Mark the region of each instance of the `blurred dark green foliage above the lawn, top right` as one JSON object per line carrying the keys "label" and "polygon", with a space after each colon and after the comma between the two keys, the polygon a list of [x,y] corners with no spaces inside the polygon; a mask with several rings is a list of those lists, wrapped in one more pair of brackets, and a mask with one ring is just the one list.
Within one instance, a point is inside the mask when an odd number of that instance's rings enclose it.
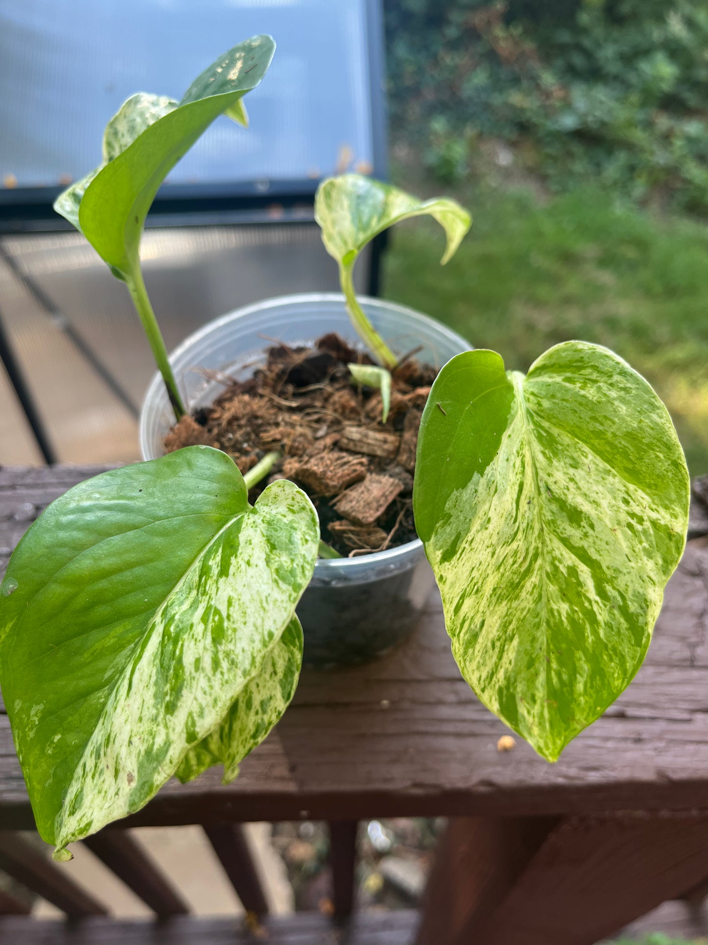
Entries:
{"label": "blurred dark green foliage above the lawn, top right", "polygon": [[706,0],[385,0],[385,12],[394,135],[439,180],[473,175],[493,140],[553,191],[592,178],[708,212]]}

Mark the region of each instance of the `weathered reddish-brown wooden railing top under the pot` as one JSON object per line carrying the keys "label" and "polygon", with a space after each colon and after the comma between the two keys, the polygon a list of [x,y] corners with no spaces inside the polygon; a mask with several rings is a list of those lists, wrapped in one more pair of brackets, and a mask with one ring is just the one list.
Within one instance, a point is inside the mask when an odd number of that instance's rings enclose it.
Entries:
{"label": "weathered reddish-brown wooden railing top under the pot", "polygon": [[[0,470],[0,548],[98,468]],[[169,782],[131,825],[435,815],[570,815],[708,809],[708,540],[671,578],[643,668],[615,706],[548,765],[461,678],[440,601],[379,662],[303,672],[276,730],[221,785],[211,769]],[[33,818],[7,716],[0,716],[0,827]]]}

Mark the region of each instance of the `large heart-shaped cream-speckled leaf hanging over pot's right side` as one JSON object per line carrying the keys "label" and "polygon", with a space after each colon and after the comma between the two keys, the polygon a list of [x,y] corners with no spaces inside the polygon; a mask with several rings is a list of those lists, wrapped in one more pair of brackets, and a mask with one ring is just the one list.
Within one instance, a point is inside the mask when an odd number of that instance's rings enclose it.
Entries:
{"label": "large heart-shaped cream-speckled leaf hanging over pot's right side", "polygon": [[643,661],[688,502],[666,407],[605,348],[565,342],[526,377],[464,352],[435,380],[413,508],[452,651],[548,760]]}

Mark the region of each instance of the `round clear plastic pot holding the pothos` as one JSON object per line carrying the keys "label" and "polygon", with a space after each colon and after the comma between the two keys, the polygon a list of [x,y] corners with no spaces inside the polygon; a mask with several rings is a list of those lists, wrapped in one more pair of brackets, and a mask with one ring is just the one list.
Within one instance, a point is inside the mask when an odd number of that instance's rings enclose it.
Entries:
{"label": "round clear plastic pot holding the pothos", "polygon": [[[432,318],[378,299],[360,299],[374,327],[397,354],[441,368],[470,345]],[[204,369],[244,379],[265,361],[270,339],[312,344],[337,332],[362,347],[337,293],[284,296],[230,312],[190,335],[170,356],[190,409],[210,404],[223,387]],[[164,453],[174,423],[159,374],[147,390],[140,421],[144,459]],[[305,663],[320,668],[370,660],[409,633],[433,584],[421,541],[360,558],[318,560],[297,608],[305,634]]]}

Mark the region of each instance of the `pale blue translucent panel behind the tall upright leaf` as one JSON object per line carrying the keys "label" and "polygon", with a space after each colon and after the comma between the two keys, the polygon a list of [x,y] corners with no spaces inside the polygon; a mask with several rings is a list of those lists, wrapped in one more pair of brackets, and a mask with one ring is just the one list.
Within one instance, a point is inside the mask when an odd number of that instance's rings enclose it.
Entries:
{"label": "pale blue translucent panel behind the tall upright leaf", "polygon": [[278,50],[250,128],[217,119],[168,182],[318,178],[344,147],[373,165],[366,0],[0,0],[0,185],[82,177],[128,95],[178,99],[257,33]]}

